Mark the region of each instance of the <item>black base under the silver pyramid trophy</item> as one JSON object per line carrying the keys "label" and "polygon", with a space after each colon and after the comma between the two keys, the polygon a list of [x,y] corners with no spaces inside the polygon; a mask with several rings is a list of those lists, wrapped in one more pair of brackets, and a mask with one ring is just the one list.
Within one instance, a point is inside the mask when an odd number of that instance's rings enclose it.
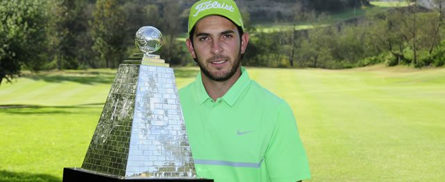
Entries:
{"label": "black base under the silver pyramid trophy", "polygon": [[199,182],[210,182],[212,179],[180,179],[180,178],[170,178],[170,179],[149,179],[149,178],[118,178],[116,176],[108,176],[105,174],[99,174],[95,172],[90,172],[88,170],[83,170],[76,167],[64,167],[63,168],[63,179],[62,182],[74,182],[74,181],[110,181],[110,182],[121,182],[121,181],[156,181],[156,182],[172,182],[172,181],[199,181]]}

